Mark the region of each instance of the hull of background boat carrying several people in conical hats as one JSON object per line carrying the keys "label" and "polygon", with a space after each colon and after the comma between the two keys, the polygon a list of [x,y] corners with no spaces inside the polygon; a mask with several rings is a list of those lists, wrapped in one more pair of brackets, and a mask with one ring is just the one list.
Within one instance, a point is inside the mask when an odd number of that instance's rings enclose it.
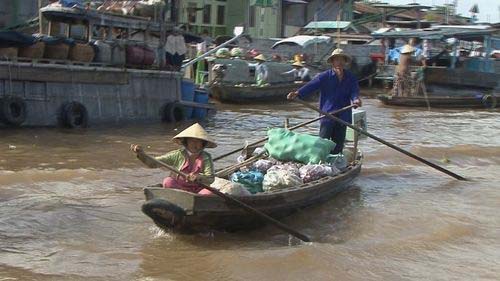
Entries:
{"label": "hull of background boat carrying several people in conical hats", "polygon": [[276,83],[268,86],[213,84],[211,97],[223,103],[285,102],[286,95],[302,87],[304,82]]}

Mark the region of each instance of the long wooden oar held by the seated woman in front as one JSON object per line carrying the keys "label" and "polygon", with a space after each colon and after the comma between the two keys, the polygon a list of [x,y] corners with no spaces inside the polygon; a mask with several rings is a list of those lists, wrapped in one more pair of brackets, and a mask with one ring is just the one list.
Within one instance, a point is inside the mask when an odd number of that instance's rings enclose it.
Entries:
{"label": "long wooden oar held by the seated woman in front", "polygon": [[[165,168],[165,169],[167,169],[167,170],[170,170],[170,171],[172,171],[172,172],[174,172],[174,173],[176,173],[176,174],[178,174],[178,175],[180,175],[180,176],[183,176],[184,178],[187,178],[187,176],[188,176],[186,173],[183,173],[183,172],[181,172],[181,171],[179,171],[179,170],[175,169],[174,167],[171,167],[171,166],[169,166],[169,165],[167,165],[167,164],[165,164],[165,163],[163,163],[163,162],[161,162],[161,161],[158,161],[158,160],[156,160],[156,158],[151,157],[151,156],[147,155],[146,153],[143,153],[143,156],[144,156],[145,158],[147,158],[149,161],[154,162],[156,165],[158,165],[158,166],[160,166],[160,167],[163,167],[163,168]],[[208,186],[208,185],[205,185],[205,184],[202,184],[202,183],[198,183],[198,184],[199,184],[199,185],[201,185],[201,186],[203,186],[204,188],[206,188],[206,189],[210,190],[210,191],[211,191],[212,193],[214,193],[215,195],[217,195],[217,196],[220,196],[220,197],[224,198],[226,201],[229,201],[229,202],[231,202],[231,203],[234,203],[234,204],[238,205],[240,208],[244,209],[245,211],[247,211],[247,212],[249,212],[249,213],[251,213],[251,214],[254,214],[254,215],[256,215],[256,216],[258,216],[258,217],[260,217],[260,218],[262,218],[262,219],[266,220],[267,222],[269,222],[269,223],[273,224],[273,225],[274,225],[274,226],[276,226],[277,228],[279,228],[279,229],[281,229],[281,230],[283,230],[283,231],[285,231],[285,232],[290,233],[291,235],[293,235],[293,236],[295,236],[295,237],[299,238],[300,240],[302,240],[302,241],[304,241],[304,242],[310,242],[310,241],[311,241],[311,240],[309,239],[309,237],[305,236],[304,234],[301,234],[301,233],[299,233],[298,231],[296,231],[296,230],[294,230],[294,229],[291,229],[290,227],[288,227],[288,226],[287,226],[287,225],[285,225],[284,223],[282,223],[282,222],[280,222],[280,221],[277,221],[277,220],[273,219],[272,217],[270,217],[270,216],[266,215],[265,213],[263,213],[263,212],[261,212],[261,211],[259,211],[259,210],[255,209],[255,208],[250,207],[249,205],[247,205],[247,204],[245,204],[245,203],[241,202],[240,200],[238,200],[238,199],[236,199],[236,198],[234,198],[234,197],[232,197],[232,196],[229,196],[229,195],[227,195],[227,194],[225,194],[225,193],[222,193],[222,192],[220,192],[219,190],[217,190],[217,189],[215,189],[215,188],[213,188],[213,187],[210,187],[210,186]]]}

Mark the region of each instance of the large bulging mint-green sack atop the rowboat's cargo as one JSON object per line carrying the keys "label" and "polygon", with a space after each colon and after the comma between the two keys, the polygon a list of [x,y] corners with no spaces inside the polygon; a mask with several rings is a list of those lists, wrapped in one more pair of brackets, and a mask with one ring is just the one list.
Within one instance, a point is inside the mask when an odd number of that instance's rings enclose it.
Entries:
{"label": "large bulging mint-green sack atop the rowboat's cargo", "polygon": [[319,164],[326,162],[327,156],[335,147],[331,140],[283,128],[270,129],[267,136],[269,140],[264,148],[271,157],[280,161]]}

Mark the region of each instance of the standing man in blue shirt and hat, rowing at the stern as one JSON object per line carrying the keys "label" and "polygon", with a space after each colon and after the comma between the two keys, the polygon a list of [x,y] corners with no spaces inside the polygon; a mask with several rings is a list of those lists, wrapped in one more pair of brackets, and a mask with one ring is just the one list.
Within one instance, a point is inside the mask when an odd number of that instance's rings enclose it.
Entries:
{"label": "standing man in blue shirt and hat, rowing at the stern", "polygon": [[[342,49],[335,49],[327,61],[331,64],[331,69],[318,74],[297,91],[290,92],[287,98],[305,99],[308,95],[320,91],[319,106],[322,111],[331,112],[351,104],[361,106],[358,79],[349,70],[344,69],[345,65],[351,62],[351,57]],[[352,123],[351,109],[339,113],[338,117]],[[321,119],[319,135],[335,142],[333,154],[341,153],[344,149],[346,129],[345,125],[329,118]]]}

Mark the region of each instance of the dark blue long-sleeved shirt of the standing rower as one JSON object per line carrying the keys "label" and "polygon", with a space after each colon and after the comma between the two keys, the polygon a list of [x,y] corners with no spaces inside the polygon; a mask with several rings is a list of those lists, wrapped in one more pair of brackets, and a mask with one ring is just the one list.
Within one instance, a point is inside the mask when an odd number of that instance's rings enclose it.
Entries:
{"label": "dark blue long-sleeved shirt of the standing rower", "polygon": [[[320,91],[319,107],[322,111],[331,112],[351,105],[351,101],[359,96],[358,79],[344,69],[344,78],[342,81],[337,79],[333,69],[321,72],[313,80],[302,86],[298,92],[299,97],[304,99],[308,95]],[[352,121],[351,110],[339,113],[338,117],[348,123]],[[322,118],[322,123],[333,123],[329,118]]]}

